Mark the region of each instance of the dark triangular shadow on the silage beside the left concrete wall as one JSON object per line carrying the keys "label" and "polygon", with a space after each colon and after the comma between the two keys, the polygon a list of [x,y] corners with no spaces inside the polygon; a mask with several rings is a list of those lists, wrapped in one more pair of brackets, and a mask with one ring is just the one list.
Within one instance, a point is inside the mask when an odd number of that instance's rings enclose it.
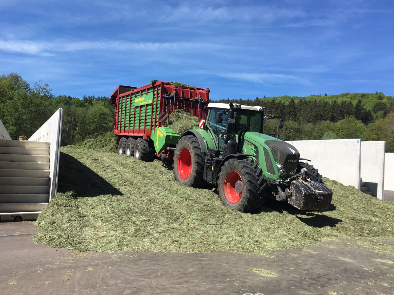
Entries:
{"label": "dark triangular shadow on the silage beside the left concrete wall", "polygon": [[60,153],[58,192],[74,191],[76,197],[95,197],[98,195],[123,195],[95,171],[74,157]]}

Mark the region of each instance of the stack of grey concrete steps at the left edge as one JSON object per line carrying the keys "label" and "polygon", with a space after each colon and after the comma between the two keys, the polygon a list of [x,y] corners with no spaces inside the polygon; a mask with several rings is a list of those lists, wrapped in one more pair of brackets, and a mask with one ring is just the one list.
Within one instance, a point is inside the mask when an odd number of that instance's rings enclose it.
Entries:
{"label": "stack of grey concrete steps at the left edge", "polygon": [[2,221],[18,215],[31,218],[48,204],[49,148],[49,142],[0,140]]}

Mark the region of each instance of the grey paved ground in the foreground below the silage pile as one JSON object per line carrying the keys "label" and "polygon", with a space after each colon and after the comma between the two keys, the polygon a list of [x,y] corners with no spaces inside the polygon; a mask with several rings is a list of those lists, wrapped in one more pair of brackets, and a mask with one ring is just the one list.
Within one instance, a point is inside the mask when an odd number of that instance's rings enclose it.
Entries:
{"label": "grey paved ground in the foreground below the silage pile", "polygon": [[349,240],[268,256],[76,253],[34,244],[35,232],[32,223],[0,223],[0,294],[394,294],[394,258]]}

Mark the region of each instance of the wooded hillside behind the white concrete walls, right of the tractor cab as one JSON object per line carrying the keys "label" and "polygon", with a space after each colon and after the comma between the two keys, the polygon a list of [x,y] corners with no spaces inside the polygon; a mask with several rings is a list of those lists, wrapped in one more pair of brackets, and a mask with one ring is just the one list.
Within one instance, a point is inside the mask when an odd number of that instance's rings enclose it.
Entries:
{"label": "wooded hillside behind the white concrete walls, right of the tractor cab", "polygon": [[386,151],[394,152],[394,97],[382,92],[344,93],[327,96],[273,98],[255,100],[219,100],[222,103],[263,106],[266,114],[282,115],[279,120],[264,121],[264,133],[278,134],[282,140],[361,138],[385,140]]}

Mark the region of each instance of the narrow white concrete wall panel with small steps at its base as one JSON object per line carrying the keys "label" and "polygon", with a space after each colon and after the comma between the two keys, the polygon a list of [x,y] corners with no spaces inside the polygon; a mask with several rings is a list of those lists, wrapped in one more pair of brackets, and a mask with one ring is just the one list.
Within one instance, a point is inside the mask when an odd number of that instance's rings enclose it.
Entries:
{"label": "narrow white concrete wall panel with small steps at its base", "polygon": [[364,141],[361,143],[362,181],[369,186],[374,197],[383,200],[383,179],[385,170],[385,141]]}

